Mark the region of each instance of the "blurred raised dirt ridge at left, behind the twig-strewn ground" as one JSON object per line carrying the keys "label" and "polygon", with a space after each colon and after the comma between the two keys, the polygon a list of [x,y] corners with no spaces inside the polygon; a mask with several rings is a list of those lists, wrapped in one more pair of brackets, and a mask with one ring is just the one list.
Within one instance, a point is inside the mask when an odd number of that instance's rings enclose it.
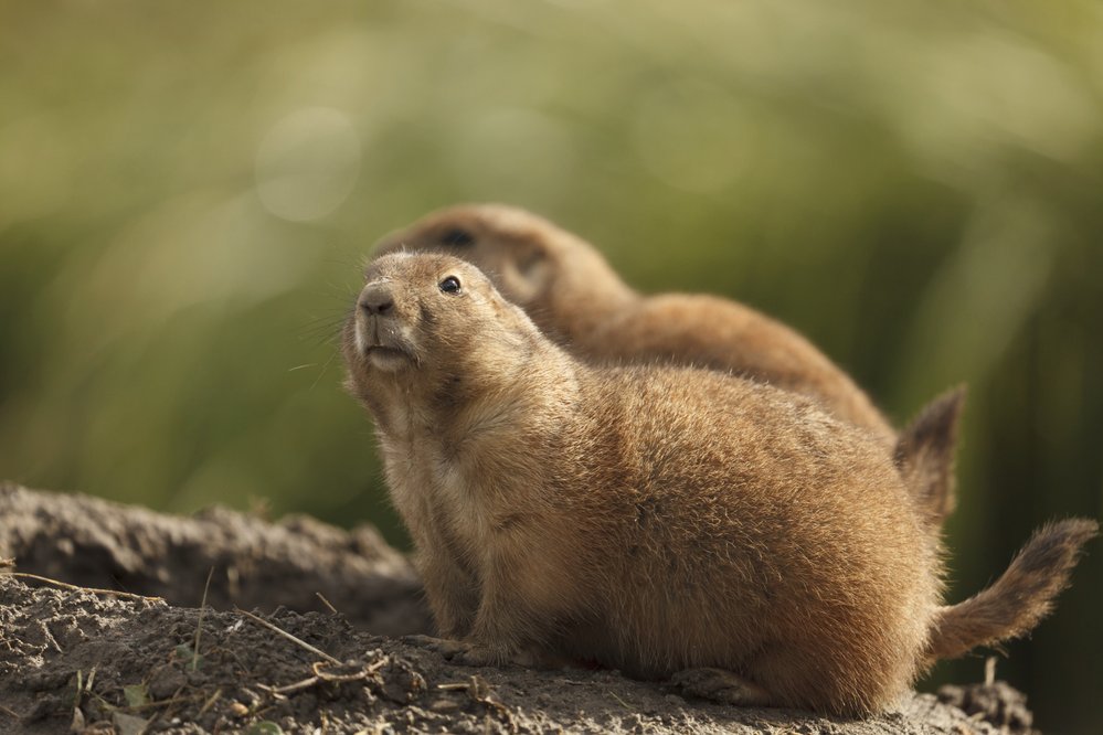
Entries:
{"label": "blurred raised dirt ridge at left, behind the twig-strewn ground", "polygon": [[372,526],[352,531],[306,515],[278,523],[223,508],[192,518],[98,498],[0,483],[0,556],[20,572],[199,607],[326,610],[362,630],[428,632],[421,585]]}

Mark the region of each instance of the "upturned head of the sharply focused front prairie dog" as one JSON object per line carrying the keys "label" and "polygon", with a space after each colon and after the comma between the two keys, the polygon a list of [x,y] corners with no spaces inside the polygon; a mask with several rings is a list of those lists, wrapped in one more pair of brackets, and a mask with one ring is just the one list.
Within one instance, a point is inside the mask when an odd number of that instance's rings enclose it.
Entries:
{"label": "upturned head of the sharply focused front prairie dog", "polygon": [[343,332],[356,393],[383,376],[434,390],[490,383],[542,339],[474,265],[438,253],[393,253],[369,264]]}

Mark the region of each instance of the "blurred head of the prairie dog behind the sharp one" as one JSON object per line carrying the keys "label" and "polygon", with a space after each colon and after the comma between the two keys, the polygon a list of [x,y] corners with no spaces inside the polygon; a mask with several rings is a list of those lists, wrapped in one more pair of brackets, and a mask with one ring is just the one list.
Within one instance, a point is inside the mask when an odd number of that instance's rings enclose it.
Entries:
{"label": "blurred head of the prairie dog behind the sharp one", "polygon": [[474,263],[513,303],[540,315],[564,292],[627,289],[586,242],[524,210],[465,204],[434,212],[378,245],[394,252],[447,253]]}

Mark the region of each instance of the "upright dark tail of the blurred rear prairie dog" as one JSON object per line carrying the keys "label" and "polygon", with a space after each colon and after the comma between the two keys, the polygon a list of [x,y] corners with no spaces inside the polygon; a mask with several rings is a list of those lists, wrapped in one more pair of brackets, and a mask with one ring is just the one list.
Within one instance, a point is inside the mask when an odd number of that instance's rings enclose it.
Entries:
{"label": "upright dark tail of the blurred rear prairie dog", "polygon": [[954,510],[954,451],[965,386],[929,403],[900,434],[895,462],[926,528],[941,531]]}

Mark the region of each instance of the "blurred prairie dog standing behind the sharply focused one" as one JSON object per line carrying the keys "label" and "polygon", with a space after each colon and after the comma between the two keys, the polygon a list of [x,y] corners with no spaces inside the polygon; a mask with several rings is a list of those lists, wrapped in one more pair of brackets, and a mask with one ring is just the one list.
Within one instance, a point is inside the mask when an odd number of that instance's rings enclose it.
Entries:
{"label": "blurred prairie dog standing behind the sharply focused one", "polygon": [[815,398],[828,413],[894,446],[913,501],[931,526],[941,528],[953,508],[961,392],[933,403],[898,437],[869,396],[793,329],[714,296],[643,296],[592,245],[521,209],[448,207],[376,245],[380,254],[403,249],[446,252],[474,263],[547,334],[584,360],[730,371]]}

